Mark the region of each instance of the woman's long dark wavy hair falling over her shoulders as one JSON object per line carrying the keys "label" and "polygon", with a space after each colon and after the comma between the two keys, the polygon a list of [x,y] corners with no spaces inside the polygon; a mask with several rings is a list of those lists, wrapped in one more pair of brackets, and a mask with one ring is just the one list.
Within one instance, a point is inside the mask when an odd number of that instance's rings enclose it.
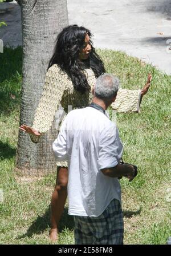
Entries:
{"label": "woman's long dark wavy hair falling over her shoulders", "polygon": [[86,34],[91,38],[91,32],[85,27],[78,25],[65,27],[56,39],[54,54],[48,65],[50,68],[50,66],[58,64],[71,78],[74,88],[81,93],[90,90],[86,75],[83,72],[85,62],[88,68],[93,70],[96,78],[105,72],[103,61],[95,52],[91,40],[91,52],[88,60],[79,60],[79,53],[84,46]]}

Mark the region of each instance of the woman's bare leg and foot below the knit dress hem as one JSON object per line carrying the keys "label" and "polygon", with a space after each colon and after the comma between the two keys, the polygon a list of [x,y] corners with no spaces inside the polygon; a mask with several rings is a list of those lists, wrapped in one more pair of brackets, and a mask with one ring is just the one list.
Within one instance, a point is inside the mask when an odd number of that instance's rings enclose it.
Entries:
{"label": "woman's bare leg and foot below the knit dress hem", "polygon": [[58,224],[64,210],[67,199],[68,170],[65,167],[58,167],[55,190],[51,199],[51,230],[50,239],[58,239]]}

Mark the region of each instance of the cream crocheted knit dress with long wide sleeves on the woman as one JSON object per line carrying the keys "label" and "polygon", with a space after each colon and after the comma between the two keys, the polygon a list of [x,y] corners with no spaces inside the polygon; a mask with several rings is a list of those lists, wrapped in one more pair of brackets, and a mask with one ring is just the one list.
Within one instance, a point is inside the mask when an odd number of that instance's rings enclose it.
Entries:
{"label": "cream crocheted knit dress with long wide sleeves on the woman", "polygon": [[[50,129],[56,111],[61,105],[64,111],[68,112],[68,106],[79,108],[87,106],[92,101],[92,88],[95,85],[96,77],[92,69],[85,69],[88,84],[91,86],[91,91],[84,94],[74,89],[72,81],[68,75],[63,72],[58,65],[52,65],[45,77],[42,97],[38,108],[36,109],[32,128],[40,133],[45,133]],[[119,89],[115,103],[112,103],[112,109],[118,113],[139,112],[141,90]],[[30,135],[34,143],[38,143],[39,137]],[[67,167],[66,162],[57,162],[57,166]]]}

